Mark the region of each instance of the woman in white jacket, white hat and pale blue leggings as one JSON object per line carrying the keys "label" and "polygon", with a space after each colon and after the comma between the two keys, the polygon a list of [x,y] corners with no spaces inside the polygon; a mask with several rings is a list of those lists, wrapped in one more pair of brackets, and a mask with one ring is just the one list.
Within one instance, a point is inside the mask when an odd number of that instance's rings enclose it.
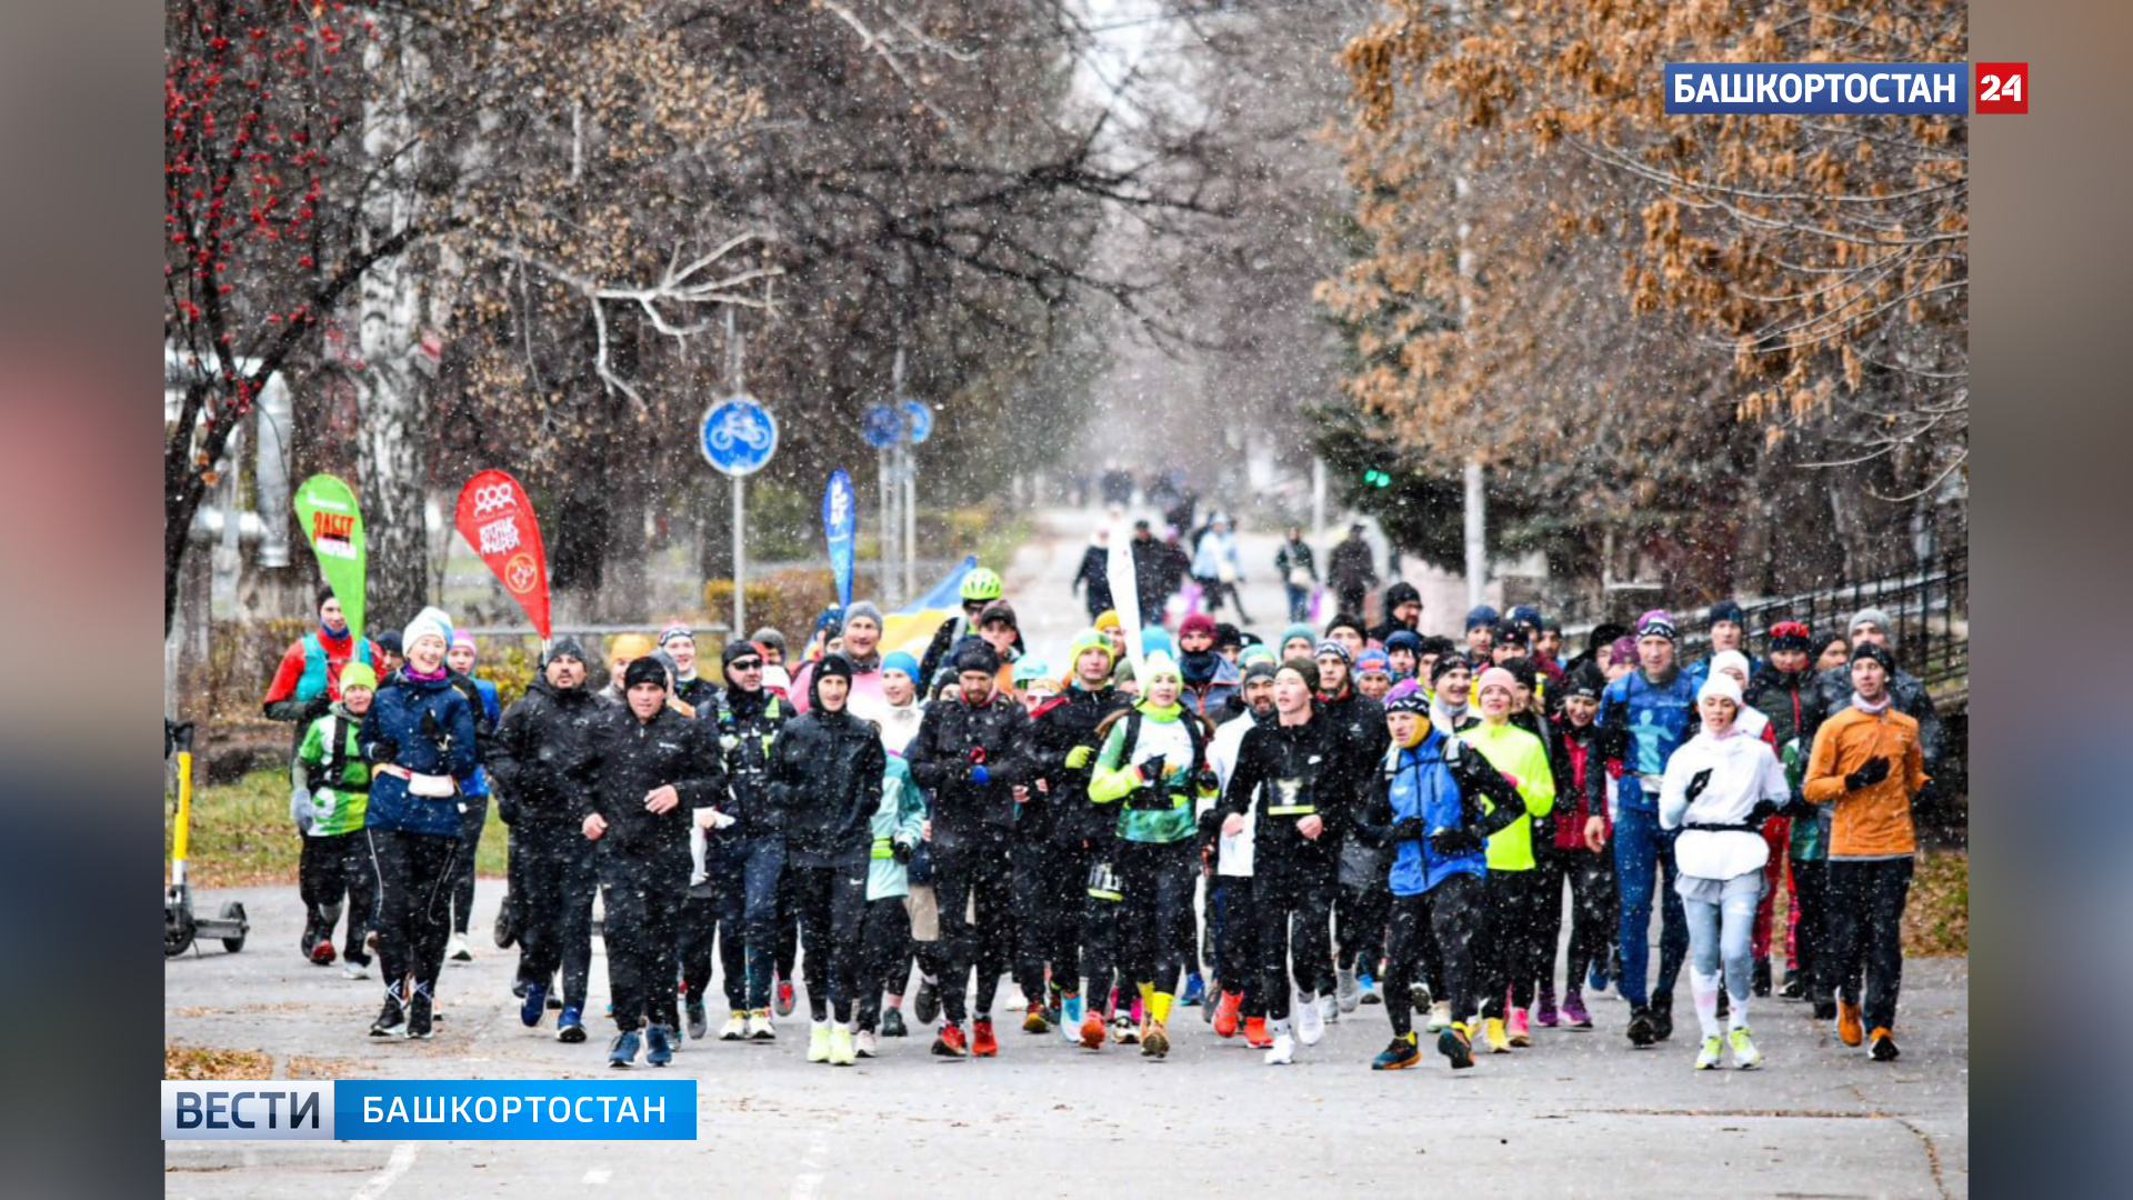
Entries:
{"label": "woman in white jacket, white hat and pale blue leggings", "polygon": [[1749,1070],[1762,1063],[1747,1027],[1749,935],[1755,901],[1762,899],[1762,867],[1770,856],[1762,822],[1792,801],[1792,788],[1768,743],[1738,726],[1741,685],[1732,675],[1713,670],[1696,692],[1696,709],[1704,728],[1668,758],[1659,784],[1659,824],[1681,831],[1674,841],[1674,890],[1689,918],[1689,989],[1704,1031],[1696,1070],[1719,1065],[1723,1053],[1721,963],[1732,1006],[1723,1042],[1732,1044],[1734,1065]]}

